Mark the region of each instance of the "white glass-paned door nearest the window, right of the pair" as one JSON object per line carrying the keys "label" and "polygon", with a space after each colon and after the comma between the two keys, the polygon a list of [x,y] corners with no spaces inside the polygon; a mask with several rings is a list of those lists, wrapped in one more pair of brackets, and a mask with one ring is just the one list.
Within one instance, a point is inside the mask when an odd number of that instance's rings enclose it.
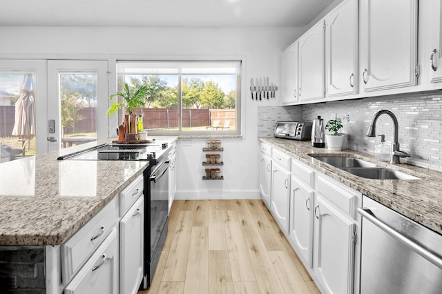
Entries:
{"label": "white glass-paned door nearest the window, right of the pair", "polygon": [[108,137],[108,61],[48,60],[48,150]]}

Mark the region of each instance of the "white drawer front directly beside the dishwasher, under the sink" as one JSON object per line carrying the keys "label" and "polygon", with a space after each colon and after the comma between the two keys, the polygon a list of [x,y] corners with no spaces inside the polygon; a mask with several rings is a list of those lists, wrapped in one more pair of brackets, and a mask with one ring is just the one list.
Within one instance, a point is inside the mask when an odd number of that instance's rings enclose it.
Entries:
{"label": "white drawer front directly beside the dishwasher, under the sink", "polygon": [[325,175],[318,175],[316,191],[352,219],[356,217],[358,194],[360,194],[356,190],[343,187],[340,183],[329,179]]}

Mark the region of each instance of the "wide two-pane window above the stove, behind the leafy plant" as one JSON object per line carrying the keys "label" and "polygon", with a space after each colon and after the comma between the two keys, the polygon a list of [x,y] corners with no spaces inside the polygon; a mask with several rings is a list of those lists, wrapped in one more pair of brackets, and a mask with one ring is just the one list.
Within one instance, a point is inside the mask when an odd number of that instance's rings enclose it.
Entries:
{"label": "wide two-pane window above the stove, behind the leafy plant", "polygon": [[148,88],[135,112],[152,135],[239,135],[240,71],[241,61],[117,62],[120,88]]}

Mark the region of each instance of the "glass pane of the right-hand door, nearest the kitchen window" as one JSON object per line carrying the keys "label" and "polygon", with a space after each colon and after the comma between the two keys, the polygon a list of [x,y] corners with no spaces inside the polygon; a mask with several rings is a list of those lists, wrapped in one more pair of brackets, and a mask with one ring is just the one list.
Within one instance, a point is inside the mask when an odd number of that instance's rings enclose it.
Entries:
{"label": "glass pane of the right-hand door, nearest the kitchen window", "polygon": [[61,148],[97,139],[97,74],[60,73]]}

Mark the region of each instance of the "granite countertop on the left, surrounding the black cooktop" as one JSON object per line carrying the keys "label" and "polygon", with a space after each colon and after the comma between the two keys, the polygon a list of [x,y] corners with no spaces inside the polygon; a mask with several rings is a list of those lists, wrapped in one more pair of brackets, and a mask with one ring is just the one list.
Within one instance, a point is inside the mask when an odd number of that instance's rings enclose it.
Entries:
{"label": "granite countertop on the left, surrounding the black cooktop", "polygon": [[109,141],[0,164],[0,245],[63,244],[142,175],[148,161],[57,160],[59,155]]}

